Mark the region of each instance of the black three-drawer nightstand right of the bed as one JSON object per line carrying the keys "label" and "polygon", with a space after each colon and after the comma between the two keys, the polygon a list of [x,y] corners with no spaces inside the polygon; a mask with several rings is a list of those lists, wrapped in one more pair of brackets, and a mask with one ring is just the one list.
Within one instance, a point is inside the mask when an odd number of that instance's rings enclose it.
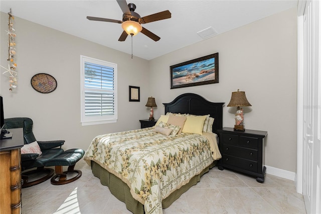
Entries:
{"label": "black three-drawer nightstand right of the bed", "polygon": [[219,149],[222,158],[218,168],[232,169],[256,177],[256,181],[263,183],[266,172],[264,166],[264,138],[265,131],[245,130],[234,131],[224,127],[218,130]]}

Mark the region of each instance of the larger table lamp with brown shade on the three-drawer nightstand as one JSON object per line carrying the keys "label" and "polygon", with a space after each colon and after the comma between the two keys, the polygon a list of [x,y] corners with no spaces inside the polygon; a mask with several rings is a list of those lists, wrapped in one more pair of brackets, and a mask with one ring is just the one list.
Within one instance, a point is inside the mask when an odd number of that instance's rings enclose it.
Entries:
{"label": "larger table lamp with brown shade on the three-drawer nightstand", "polygon": [[245,92],[237,91],[232,92],[231,101],[227,106],[236,106],[236,114],[235,114],[235,125],[234,130],[236,131],[245,131],[244,129],[244,113],[243,109],[240,109],[240,106],[252,106],[249,101],[246,99]]}

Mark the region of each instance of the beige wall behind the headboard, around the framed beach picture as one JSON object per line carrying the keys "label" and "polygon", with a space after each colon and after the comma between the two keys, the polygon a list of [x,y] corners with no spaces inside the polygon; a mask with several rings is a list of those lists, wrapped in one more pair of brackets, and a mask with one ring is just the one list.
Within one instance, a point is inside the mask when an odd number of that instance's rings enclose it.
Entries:
{"label": "beige wall behind the headboard, around the framed beach picture", "polygon": [[[170,66],[219,53],[219,83],[170,89]],[[245,128],[268,132],[265,164],[295,172],[296,167],[296,10],[259,20],[150,61],[150,90],[158,103],[192,92],[210,101],[230,101],[238,88],[252,107]],[[224,106],[223,126],[234,126],[236,108]]]}

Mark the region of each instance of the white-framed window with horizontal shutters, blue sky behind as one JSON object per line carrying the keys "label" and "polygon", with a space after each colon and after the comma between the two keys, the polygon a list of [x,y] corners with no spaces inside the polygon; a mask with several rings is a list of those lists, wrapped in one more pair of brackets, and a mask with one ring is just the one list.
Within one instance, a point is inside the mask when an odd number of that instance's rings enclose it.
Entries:
{"label": "white-framed window with horizontal shutters, blue sky behind", "polygon": [[82,126],[116,123],[117,64],[80,56]]}

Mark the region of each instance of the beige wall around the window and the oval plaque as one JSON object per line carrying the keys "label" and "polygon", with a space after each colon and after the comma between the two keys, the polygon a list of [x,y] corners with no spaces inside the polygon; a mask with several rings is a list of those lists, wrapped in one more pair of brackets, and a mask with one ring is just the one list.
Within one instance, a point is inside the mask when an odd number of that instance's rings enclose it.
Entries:
{"label": "beige wall around the window and the oval plaque", "polygon": [[[18,87],[10,92],[8,79],[1,77],[5,118],[30,117],[37,140],[66,140],[65,149],[87,149],[99,134],[140,128],[139,119],[148,117],[148,61],[96,43],[15,17],[17,33]],[[8,66],[8,15],[1,13],[1,65]],[[117,42],[117,41],[115,41]],[[118,122],[81,126],[80,55],[118,65]],[[3,72],[3,69],[2,69]],[[1,73],[2,73],[1,72]],[[57,89],[43,94],[34,90],[34,74],[48,73]],[[128,86],[140,86],[140,102],[128,101]]]}

